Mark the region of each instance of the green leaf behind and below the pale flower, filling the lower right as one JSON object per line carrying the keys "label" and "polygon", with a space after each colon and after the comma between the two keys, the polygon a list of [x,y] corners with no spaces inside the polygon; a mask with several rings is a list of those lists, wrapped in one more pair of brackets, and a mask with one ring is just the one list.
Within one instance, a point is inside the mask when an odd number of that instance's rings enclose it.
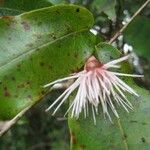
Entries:
{"label": "green leaf behind and below the pale flower, filling the lower right", "polygon": [[[105,43],[99,44],[98,49],[101,62],[110,61],[112,57],[114,59],[120,55],[119,51]],[[121,70],[121,72],[131,72],[128,63],[123,63]],[[113,124],[108,118],[104,119],[101,107],[99,107],[100,113],[96,117],[96,125],[93,123],[92,112],[89,112],[88,118],[84,118],[83,114],[78,120],[69,118],[72,150],[150,149],[149,91],[138,87],[131,78],[124,77],[122,79],[140,95],[137,98],[127,94],[134,110],[127,113],[122,107],[115,105],[120,119],[117,119],[109,110]]]}

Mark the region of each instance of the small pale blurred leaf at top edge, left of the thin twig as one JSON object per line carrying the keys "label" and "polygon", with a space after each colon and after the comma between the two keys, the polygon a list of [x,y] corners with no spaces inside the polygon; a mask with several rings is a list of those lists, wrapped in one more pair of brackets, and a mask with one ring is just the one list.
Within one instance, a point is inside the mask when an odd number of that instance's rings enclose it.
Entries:
{"label": "small pale blurred leaf at top edge, left of the thin twig", "polygon": [[92,7],[97,13],[104,12],[110,20],[116,19],[116,0],[94,0]]}

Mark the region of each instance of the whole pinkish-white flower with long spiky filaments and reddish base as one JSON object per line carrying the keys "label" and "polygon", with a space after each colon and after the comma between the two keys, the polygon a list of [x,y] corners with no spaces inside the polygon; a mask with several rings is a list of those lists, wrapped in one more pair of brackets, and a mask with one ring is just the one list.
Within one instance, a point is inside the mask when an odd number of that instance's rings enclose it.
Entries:
{"label": "whole pinkish-white flower with long spiky filaments and reddish base", "polygon": [[127,112],[128,109],[133,109],[133,106],[128,101],[125,92],[135,96],[138,96],[138,94],[124,81],[119,79],[118,76],[143,77],[143,75],[132,75],[108,70],[109,68],[120,68],[118,63],[129,59],[129,57],[130,55],[127,55],[106,64],[102,64],[94,56],[91,56],[85,63],[83,71],[46,84],[44,87],[49,87],[66,80],[75,79],[74,82],[54,101],[54,103],[46,109],[46,111],[49,111],[52,107],[59,103],[53,112],[54,115],[76,89],[78,89],[76,96],[66,112],[67,114],[71,111],[71,117],[78,119],[83,110],[86,118],[88,116],[89,105],[91,105],[94,123],[96,124],[96,114],[98,113],[99,105],[101,105],[104,116],[108,116],[110,121],[112,120],[108,107],[112,110],[114,115],[119,118],[114,106],[115,102],[119,106],[122,106]]}

